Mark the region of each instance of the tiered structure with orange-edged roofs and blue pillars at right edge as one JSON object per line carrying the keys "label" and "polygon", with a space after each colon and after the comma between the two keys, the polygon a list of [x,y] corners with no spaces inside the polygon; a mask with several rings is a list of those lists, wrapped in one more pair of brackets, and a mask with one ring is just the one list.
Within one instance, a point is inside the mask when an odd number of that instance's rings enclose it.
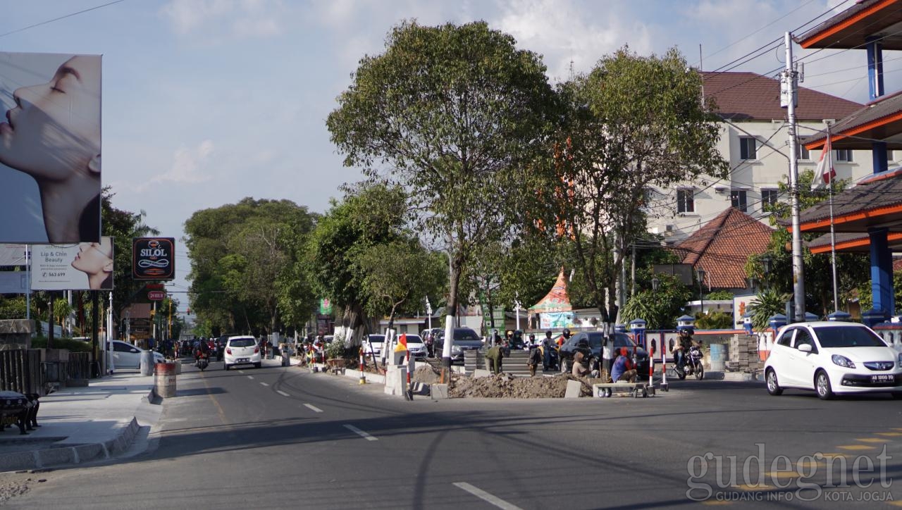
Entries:
{"label": "tiered structure with orange-edged roofs and blue pillars at right edge", "polygon": [[825,127],[802,143],[808,150],[823,149],[829,137],[833,150],[870,149],[874,176],[834,196],[833,214],[827,202],[805,210],[799,230],[830,232],[833,224],[835,243],[819,238],[809,244],[813,252],[830,250],[831,244],[870,252],[869,315],[885,319],[896,309],[892,252],[902,249],[902,177],[888,171],[888,150],[902,149],[902,92],[886,95],[883,50],[902,50],[902,0],[861,0],[795,40],[805,49],[866,50],[870,103],[829,126],[829,133]]}

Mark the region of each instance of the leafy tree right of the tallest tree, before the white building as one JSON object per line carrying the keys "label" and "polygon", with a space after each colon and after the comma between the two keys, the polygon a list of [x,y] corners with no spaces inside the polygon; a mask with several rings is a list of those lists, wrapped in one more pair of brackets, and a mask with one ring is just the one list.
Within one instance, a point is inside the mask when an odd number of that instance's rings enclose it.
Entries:
{"label": "leafy tree right of the tallest tree, before the white building", "polygon": [[676,50],[640,57],[623,48],[558,93],[566,114],[546,222],[559,225],[548,231],[607,317],[626,248],[645,232],[649,187],[726,177],[728,164],[716,149],[717,118],[700,99],[702,78]]}

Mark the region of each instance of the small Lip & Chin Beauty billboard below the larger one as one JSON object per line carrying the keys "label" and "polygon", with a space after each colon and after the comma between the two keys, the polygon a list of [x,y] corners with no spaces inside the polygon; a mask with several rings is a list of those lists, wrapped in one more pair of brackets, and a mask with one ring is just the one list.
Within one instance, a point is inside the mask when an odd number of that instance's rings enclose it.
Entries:
{"label": "small Lip & Chin Beauty billboard below the larger one", "polygon": [[113,290],[113,238],[32,246],[32,290]]}

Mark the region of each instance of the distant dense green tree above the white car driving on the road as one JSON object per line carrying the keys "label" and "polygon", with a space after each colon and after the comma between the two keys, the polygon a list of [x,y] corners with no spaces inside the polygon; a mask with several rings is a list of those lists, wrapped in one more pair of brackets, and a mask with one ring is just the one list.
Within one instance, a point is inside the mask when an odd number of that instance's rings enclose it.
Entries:
{"label": "distant dense green tree above the white car driving on the road", "polygon": [[[315,216],[290,200],[244,198],[237,204],[204,209],[185,222],[191,259],[191,307],[198,322],[214,334],[276,332],[280,306],[312,311],[312,298],[285,296],[288,272],[299,257],[299,239],[313,228]],[[301,286],[302,287],[302,286]],[[297,327],[298,323],[290,324]]]}

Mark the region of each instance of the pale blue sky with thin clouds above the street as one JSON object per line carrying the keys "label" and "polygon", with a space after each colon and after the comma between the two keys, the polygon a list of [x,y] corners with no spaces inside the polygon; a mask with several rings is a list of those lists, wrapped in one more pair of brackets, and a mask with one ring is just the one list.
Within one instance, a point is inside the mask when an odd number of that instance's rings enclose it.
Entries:
{"label": "pale blue sky with thin clouds above the street", "polygon": [[[106,3],[0,0],[0,33]],[[842,4],[842,5],[841,5]],[[325,126],[364,54],[384,49],[403,19],[485,20],[543,55],[552,81],[587,71],[629,44],[640,54],[676,46],[714,70],[847,0],[125,0],[0,37],[0,50],[102,54],[103,181],[114,205],[147,212],[180,238],[198,209],[244,196],[287,198],[324,212],[344,168]],[[797,56],[806,51],[796,47]],[[867,100],[863,51],[827,52],[804,87]],[[887,53],[887,88],[899,69]],[[814,60],[814,59],[811,59]],[[783,51],[735,70],[766,73]],[[820,75],[820,76],[816,76]],[[178,250],[179,279],[189,264]],[[183,303],[186,300],[182,300]]]}

